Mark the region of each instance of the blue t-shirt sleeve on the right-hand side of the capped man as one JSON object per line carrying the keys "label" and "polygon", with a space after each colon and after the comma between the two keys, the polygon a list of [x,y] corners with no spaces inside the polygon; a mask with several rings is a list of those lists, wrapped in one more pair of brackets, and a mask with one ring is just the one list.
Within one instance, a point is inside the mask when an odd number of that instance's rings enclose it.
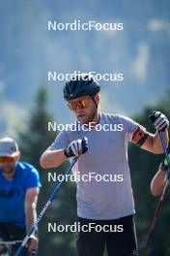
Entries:
{"label": "blue t-shirt sleeve on the right-hand side of the capped man", "polygon": [[33,187],[42,187],[39,172],[36,168],[32,168],[29,174],[25,178],[24,182],[25,190]]}

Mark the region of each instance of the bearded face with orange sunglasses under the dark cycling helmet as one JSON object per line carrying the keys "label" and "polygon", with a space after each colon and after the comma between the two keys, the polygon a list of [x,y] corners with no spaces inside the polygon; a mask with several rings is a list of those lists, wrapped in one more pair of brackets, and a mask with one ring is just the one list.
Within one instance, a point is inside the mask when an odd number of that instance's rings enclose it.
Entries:
{"label": "bearded face with orange sunglasses under the dark cycling helmet", "polygon": [[69,106],[71,106],[70,109],[76,114],[77,119],[82,124],[92,122],[97,112],[97,105],[90,96],[72,100],[69,102]]}

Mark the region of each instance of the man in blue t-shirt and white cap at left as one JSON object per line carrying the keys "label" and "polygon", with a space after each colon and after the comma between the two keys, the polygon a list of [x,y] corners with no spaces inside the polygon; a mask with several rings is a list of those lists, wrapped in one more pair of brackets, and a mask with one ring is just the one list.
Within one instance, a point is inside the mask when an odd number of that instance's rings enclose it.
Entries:
{"label": "man in blue t-shirt and white cap at left", "polygon": [[[20,162],[18,145],[11,138],[0,140],[0,239],[23,240],[36,220],[41,182],[35,167]],[[18,245],[13,246],[13,255]],[[38,249],[33,234],[22,255]],[[0,252],[1,254],[1,252]]]}

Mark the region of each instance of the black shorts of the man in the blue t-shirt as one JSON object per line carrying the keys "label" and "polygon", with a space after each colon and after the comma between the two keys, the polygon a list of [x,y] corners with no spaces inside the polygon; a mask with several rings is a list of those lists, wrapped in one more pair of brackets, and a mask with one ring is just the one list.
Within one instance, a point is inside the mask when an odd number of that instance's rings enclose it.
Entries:
{"label": "black shorts of the man in the blue t-shirt", "polygon": [[[5,241],[13,241],[13,240],[23,240],[26,236],[25,227],[20,228],[13,224],[9,223],[0,223],[0,239]],[[16,252],[17,248],[20,244],[12,245],[12,255]],[[20,256],[28,256],[28,250],[26,247],[23,248],[23,251]]]}

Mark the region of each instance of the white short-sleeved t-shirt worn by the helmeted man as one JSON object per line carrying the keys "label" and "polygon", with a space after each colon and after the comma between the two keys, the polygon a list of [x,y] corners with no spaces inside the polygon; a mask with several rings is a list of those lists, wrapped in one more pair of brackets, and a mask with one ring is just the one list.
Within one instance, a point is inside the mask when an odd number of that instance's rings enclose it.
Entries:
{"label": "white short-sleeved t-shirt worn by the helmeted man", "polygon": [[[100,112],[99,124],[111,125],[114,131],[63,131],[49,148],[65,148],[73,140],[88,138],[89,150],[79,157],[74,172],[112,178],[110,181],[97,181],[95,178],[77,181],[77,215],[96,220],[117,219],[135,212],[128,168],[128,141],[131,141],[139,124],[126,116],[104,112]],[[122,176],[123,180],[115,181],[113,176]]]}

